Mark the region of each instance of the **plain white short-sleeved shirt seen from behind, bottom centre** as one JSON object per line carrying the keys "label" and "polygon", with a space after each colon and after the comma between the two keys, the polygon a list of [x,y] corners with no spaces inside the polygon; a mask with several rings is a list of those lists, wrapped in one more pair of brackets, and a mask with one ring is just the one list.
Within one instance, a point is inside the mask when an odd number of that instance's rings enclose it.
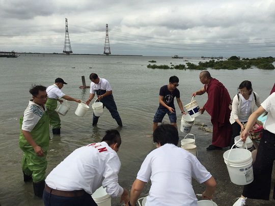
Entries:
{"label": "plain white short-sleeved shirt seen from behind, bottom centre", "polygon": [[147,155],[136,179],[152,182],[145,206],[197,206],[192,178],[203,183],[211,174],[194,155],[167,143]]}

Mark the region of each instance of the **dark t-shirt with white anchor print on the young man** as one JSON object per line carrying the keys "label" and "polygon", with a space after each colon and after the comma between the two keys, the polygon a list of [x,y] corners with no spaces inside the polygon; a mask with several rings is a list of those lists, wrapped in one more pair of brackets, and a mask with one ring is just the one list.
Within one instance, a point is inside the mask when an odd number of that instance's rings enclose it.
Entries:
{"label": "dark t-shirt with white anchor print on the young man", "polygon": [[[173,109],[175,109],[175,105],[174,105],[174,98],[180,98],[180,92],[179,90],[176,88],[173,92],[168,90],[168,85],[164,85],[160,87],[159,90],[159,96],[163,97],[163,102],[166,103],[166,105],[172,107]],[[162,106],[159,103],[159,109],[166,109],[166,107]]]}

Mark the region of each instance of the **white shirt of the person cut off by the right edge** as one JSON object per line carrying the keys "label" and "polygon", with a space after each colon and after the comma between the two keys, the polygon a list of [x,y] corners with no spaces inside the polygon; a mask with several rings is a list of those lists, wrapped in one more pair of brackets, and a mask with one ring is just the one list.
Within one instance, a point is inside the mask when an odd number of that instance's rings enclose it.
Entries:
{"label": "white shirt of the person cut off by the right edge", "polygon": [[273,92],[261,106],[268,112],[263,128],[275,134],[275,92]]}

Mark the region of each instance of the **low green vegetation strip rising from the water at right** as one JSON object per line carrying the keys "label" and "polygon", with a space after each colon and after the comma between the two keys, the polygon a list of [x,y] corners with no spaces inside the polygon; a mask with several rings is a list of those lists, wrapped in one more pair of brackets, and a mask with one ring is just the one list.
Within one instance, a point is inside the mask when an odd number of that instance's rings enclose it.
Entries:
{"label": "low green vegetation strip rising from the water at right", "polygon": [[[210,60],[209,62],[199,62],[198,65],[193,63],[186,63],[185,65],[171,65],[173,67],[169,67],[168,65],[147,65],[147,68],[152,69],[179,69],[179,70],[206,70],[208,68],[211,69],[250,69],[252,66],[255,66],[259,69],[265,70],[273,70],[275,69],[274,65],[272,64],[275,62],[275,58],[272,56],[269,57],[258,57],[258,58],[242,58],[240,60],[237,56],[231,56],[228,60],[225,61],[217,61]],[[170,63],[171,64],[171,63]]]}

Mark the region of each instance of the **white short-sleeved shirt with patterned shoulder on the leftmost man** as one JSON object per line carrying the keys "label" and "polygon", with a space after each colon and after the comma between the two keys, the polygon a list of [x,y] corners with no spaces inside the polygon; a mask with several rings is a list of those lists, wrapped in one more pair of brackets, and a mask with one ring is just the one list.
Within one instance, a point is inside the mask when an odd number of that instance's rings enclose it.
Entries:
{"label": "white short-sleeved shirt with patterned shoulder on the leftmost man", "polygon": [[34,103],[33,100],[30,100],[28,107],[24,111],[21,129],[31,132],[43,116],[44,112],[45,110],[43,107]]}

